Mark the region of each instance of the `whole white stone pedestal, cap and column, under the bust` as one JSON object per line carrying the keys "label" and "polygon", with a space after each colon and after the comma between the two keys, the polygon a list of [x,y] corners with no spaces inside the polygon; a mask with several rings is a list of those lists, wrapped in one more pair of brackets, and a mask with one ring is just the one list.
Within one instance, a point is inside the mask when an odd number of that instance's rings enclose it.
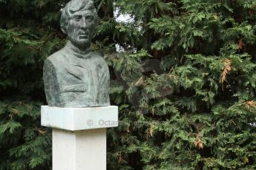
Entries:
{"label": "whole white stone pedestal, cap and column, under the bust", "polygon": [[53,128],[53,170],[106,169],[106,128],[118,126],[117,106],[42,106],[41,124]]}

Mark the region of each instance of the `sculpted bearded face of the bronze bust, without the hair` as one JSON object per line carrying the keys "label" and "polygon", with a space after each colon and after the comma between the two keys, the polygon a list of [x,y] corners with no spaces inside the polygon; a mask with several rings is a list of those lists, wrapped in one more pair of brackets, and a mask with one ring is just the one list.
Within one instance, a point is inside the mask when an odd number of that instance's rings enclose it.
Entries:
{"label": "sculpted bearded face of the bronze bust, without the hair", "polygon": [[95,30],[94,15],[91,10],[73,13],[68,21],[68,38],[79,50],[87,50]]}

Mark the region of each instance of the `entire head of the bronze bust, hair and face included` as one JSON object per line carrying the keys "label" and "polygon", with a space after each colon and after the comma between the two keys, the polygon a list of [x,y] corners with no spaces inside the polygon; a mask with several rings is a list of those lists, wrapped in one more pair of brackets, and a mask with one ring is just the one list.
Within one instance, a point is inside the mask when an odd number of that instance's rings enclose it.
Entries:
{"label": "entire head of the bronze bust, hair and face included", "polygon": [[79,50],[87,50],[98,24],[98,16],[91,0],[69,1],[62,10],[60,27]]}

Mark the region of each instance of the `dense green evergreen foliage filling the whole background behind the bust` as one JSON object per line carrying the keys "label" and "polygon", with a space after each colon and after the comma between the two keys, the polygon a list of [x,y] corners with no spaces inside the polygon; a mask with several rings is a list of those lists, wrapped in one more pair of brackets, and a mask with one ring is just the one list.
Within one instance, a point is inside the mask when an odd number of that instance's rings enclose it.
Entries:
{"label": "dense green evergreen foliage filling the whole background behind the bust", "polygon": [[[66,2],[0,1],[0,169],[50,169],[42,64],[65,44]],[[93,49],[119,106],[108,169],[256,169],[256,2],[95,4]],[[114,9],[133,21],[117,22]]]}

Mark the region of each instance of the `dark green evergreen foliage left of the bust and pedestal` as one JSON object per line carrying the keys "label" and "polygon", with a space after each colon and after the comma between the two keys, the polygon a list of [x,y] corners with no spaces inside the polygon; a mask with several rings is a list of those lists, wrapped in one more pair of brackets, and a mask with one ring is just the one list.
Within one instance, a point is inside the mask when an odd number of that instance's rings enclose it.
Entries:
{"label": "dark green evergreen foliage left of the bust and pedestal", "polygon": [[50,169],[42,64],[65,44],[59,10],[67,1],[0,1],[0,169]]}

